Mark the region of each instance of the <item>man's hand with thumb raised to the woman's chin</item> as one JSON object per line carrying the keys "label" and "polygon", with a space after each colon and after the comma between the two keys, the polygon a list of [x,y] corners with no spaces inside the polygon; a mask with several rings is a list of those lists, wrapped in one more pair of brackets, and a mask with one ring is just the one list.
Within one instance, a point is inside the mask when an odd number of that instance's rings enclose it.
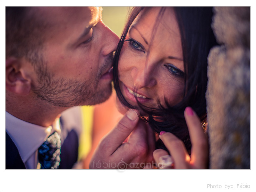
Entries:
{"label": "man's hand with thumb raised to the woman's chin", "polygon": [[[124,142],[126,141],[127,142]],[[153,164],[154,131],[130,109],[100,141],[90,169],[142,169]]]}

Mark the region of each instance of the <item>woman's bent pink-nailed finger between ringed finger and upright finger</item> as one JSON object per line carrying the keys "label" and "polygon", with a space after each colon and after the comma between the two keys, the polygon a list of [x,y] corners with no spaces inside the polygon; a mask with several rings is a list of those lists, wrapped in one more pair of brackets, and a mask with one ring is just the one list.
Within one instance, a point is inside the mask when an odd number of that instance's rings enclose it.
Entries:
{"label": "woman's bent pink-nailed finger between ringed finger and upright finger", "polygon": [[161,131],[159,137],[169,150],[175,169],[188,169],[190,157],[184,143],[170,132]]}

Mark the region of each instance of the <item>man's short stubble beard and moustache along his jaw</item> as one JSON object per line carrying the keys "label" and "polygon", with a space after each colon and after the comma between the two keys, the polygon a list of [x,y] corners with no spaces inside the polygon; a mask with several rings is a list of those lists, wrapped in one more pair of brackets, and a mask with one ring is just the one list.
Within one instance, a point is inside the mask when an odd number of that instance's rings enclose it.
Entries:
{"label": "man's short stubble beard and moustache along his jaw", "polygon": [[[112,93],[112,84],[108,83],[99,87],[99,80],[102,73],[111,65],[113,57],[108,57],[95,79],[84,80],[56,78],[50,73],[45,64],[36,67],[38,83],[33,88],[36,96],[57,107],[73,107],[79,105],[95,105],[106,101]],[[104,86],[104,87],[103,87]]]}

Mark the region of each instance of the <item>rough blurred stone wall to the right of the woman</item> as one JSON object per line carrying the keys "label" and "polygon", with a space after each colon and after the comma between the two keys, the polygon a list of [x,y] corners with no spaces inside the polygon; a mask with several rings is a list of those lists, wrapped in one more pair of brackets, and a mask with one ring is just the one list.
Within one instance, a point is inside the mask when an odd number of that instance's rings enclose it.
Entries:
{"label": "rough blurred stone wall to the right of the woman", "polygon": [[210,169],[250,169],[250,7],[214,7],[208,56]]}

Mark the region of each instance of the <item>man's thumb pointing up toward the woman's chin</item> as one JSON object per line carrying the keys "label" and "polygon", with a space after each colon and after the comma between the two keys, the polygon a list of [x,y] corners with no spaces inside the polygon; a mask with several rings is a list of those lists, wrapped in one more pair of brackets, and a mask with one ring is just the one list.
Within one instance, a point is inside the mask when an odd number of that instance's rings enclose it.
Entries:
{"label": "man's thumb pointing up toward the woman's chin", "polygon": [[99,147],[109,155],[123,143],[128,135],[134,130],[139,117],[135,110],[129,109],[117,125],[100,142]]}

